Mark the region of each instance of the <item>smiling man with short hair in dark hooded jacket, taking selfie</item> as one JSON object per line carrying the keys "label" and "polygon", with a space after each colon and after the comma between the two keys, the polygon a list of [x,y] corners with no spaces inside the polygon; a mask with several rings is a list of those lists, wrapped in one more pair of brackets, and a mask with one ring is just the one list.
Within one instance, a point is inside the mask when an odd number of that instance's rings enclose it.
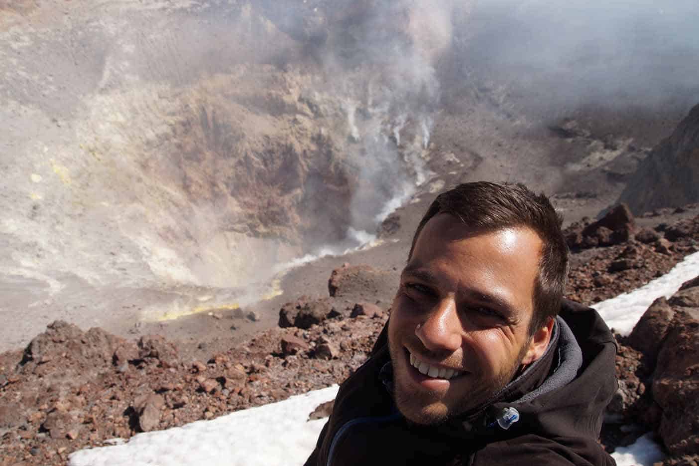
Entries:
{"label": "smiling man with short hair in dark hooded jacket, taking selfie", "polygon": [[483,182],[438,196],[306,465],[614,465],[597,439],[616,346],[563,299],[567,267],[546,197]]}

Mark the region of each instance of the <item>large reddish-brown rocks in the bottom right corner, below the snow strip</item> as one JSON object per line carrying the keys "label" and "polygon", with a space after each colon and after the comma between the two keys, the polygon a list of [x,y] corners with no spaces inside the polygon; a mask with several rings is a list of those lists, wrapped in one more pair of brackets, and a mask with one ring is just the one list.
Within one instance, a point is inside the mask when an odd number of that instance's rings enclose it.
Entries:
{"label": "large reddish-brown rocks in the bottom right corner, below the snow strip", "polygon": [[626,428],[617,440],[627,444],[634,431],[652,429],[670,455],[663,464],[696,464],[699,276],[684,283],[670,299],[657,299],[633,332],[618,340],[619,391],[607,410],[613,423],[607,425],[603,438],[619,435],[619,425],[630,425],[630,432]]}

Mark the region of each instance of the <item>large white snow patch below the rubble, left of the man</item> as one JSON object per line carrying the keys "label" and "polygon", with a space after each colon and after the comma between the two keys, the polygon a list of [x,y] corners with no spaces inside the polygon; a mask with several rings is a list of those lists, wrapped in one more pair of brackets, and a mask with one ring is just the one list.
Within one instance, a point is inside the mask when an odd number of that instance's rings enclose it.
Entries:
{"label": "large white snow patch below the rubble, left of the man", "polygon": [[134,435],[126,444],[76,451],[69,465],[303,465],[326,421],[306,421],[308,415],[337,391],[335,385],[211,421]]}

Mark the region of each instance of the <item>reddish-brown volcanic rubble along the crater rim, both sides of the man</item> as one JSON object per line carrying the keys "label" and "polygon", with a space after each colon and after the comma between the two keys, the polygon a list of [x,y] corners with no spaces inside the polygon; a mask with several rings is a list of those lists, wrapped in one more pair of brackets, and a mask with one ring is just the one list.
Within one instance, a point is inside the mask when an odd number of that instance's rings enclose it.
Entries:
{"label": "reddish-brown volcanic rubble along the crater rim, both sides of the man", "polygon": [[[597,222],[570,225],[568,297],[588,304],[614,297],[699,250],[699,216],[648,226],[668,218],[662,214],[634,219],[619,206]],[[298,297],[280,309],[278,327],[206,360],[185,360],[157,334],[134,341],[56,321],[24,351],[0,355],[0,465],[63,465],[72,451],[115,437],[340,383],[366,360],[390,314],[349,299],[349,291],[384,277],[345,264],[332,272],[329,296]],[[670,454],[665,465],[698,464],[698,332],[699,278],[658,299],[628,337],[617,337],[619,391],[602,436],[608,450],[655,430]]]}

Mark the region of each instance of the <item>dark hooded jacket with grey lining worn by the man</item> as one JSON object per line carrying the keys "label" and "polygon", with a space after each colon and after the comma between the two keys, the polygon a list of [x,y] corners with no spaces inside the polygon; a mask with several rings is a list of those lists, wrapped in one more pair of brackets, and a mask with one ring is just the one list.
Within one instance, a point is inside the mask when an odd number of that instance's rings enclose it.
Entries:
{"label": "dark hooded jacket with grey lining worn by the man", "polygon": [[[387,329],[340,386],[306,466],[614,465],[598,444],[617,390],[616,343],[596,311],[566,301],[546,353],[491,402],[437,427],[409,425],[391,396]],[[497,419],[514,408],[519,421]]]}

